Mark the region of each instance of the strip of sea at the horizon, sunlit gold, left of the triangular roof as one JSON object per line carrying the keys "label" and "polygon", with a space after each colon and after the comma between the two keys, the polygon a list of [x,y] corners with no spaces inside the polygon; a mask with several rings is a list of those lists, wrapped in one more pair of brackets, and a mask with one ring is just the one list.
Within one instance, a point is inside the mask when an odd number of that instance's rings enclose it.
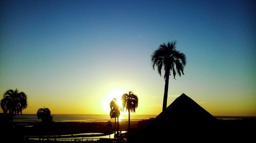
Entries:
{"label": "strip of sea at the horizon, sunlit gold, left of the triangular roof", "polygon": [[[133,115],[131,120],[143,120],[155,118],[157,115]],[[109,115],[52,115],[54,122],[96,122],[96,121],[114,121]],[[128,120],[128,115],[120,115],[119,121]],[[41,122],[36,115],[16,115],[14,122]]]}

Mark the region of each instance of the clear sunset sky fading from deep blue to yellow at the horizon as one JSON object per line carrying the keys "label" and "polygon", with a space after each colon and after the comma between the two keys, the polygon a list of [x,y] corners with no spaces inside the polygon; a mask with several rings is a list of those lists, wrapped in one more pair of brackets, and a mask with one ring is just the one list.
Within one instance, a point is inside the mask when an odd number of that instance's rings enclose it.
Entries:
{"label": "clear sunset sky fading from deep blue to yellow at the horizon", "polygon": [[[135,114],[158,115],[160,44],[177,41],[184,75],[170,77],[167,105],[185,93],[214,116],[256,116],[255,1],[1,1],[0,99],[28,97],[23,113],[109,114],[128,91]],[[0,112],[3,112],[0,109]],[[124,112],[125,113],[125,112]]]}

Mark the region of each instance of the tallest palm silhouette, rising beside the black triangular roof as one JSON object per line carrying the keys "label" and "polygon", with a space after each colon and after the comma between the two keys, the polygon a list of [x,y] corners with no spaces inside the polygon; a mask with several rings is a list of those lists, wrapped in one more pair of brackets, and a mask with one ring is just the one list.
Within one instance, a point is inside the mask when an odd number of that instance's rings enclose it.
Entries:
{"label": "tallest palm silhouette, rising beside the black triangular roof", "polygon": [[152,54],[152,63],[153,63],[153,69],[155,70],[155,66],[157,67],[158,73],[161,76],[161,70],[162,67],[164,67],[164,79],[165,79],[165,85],[164,85],[164,95],[163,95],[163,109],[166,108],[167,105],[167,94],[168,94],[168,84],[169,84],[169,76],[171,72],[173,71],[174,79],[176,76],[176,73],[178,73],[179,76],[181,74],[184,75],[183,69],[186,65],[186,55],[178,50],[176,50],[176,41],[175,42],[168,42],[167,45],[163,43],[158,47],[157,50]]}

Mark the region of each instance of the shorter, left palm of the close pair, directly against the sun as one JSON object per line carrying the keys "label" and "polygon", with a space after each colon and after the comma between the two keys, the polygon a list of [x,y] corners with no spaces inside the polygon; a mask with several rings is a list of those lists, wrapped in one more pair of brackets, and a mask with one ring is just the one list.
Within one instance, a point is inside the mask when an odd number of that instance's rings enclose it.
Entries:
{"label": "shorter, left palm of the close pair, directly against the sun", "polygon": [[117,132],[119,130],[119,116],[120,116],[120,109],[117,104],[116,98],[113,98],[113,100],[110,102],[110,118],[111,119],[115,118],[115,135],[116,135],[116,118],[117,118]]}

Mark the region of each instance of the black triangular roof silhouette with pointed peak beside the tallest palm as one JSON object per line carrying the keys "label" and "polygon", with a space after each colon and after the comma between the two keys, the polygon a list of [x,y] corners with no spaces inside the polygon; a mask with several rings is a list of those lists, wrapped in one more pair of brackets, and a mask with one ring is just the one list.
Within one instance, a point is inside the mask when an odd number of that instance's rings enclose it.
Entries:
{"label": "black triangular roof silhouette with pointed peak beside the tallest palm", "polygon": [[156,121],[208,122],[216,118],[184,93],[155,119]]}

